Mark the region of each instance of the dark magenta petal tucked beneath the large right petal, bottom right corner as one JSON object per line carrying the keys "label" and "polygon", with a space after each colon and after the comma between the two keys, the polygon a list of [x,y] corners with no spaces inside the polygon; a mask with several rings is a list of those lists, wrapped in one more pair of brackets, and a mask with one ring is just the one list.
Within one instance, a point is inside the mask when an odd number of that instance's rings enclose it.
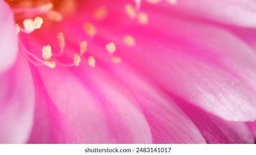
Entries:
{"label": "dark magenta petal tucked beneath the large right petal, bottom right corner", "polygon": [[176,98],[178,105],[201,131],[207,143],[253,143],[254,136],[242,122],[224,121]]}

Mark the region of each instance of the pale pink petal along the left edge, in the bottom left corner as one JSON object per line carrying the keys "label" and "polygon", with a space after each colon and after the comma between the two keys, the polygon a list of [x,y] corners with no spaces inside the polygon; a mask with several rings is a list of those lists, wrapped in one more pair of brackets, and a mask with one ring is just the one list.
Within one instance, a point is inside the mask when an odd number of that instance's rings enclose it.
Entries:
{"label": "pale pink petal along the left edge, in the bottom left corner", "polygon": [[0,143],[25,143],[33,123],[34,86],[27,61],[0,74]]}

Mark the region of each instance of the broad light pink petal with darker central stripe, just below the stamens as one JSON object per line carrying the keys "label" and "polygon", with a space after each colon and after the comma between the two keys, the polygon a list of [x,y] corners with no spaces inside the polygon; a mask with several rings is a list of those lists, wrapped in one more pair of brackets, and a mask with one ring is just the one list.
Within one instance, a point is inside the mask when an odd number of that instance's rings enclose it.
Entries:
{"label": "broad light pink petal with darker central stripe, just below the stamens", "polygon": [[135,100],[107,73],[87,66],[73,74],[39,68],[50,99],[81,143],[151,143],[150,128]]}

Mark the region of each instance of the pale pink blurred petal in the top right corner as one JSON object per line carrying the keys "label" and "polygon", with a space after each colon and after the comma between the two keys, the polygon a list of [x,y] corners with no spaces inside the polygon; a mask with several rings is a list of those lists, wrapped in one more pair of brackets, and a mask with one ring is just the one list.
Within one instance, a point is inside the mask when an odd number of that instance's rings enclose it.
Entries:
{"label": "pale pink blurred petal in the top right corner", "polygon": [[254,0],[187,1],[177,0],[176,4],[162,4],[172,9],[204,19],[234,24],[242,27],[256,27],[256,2]]}

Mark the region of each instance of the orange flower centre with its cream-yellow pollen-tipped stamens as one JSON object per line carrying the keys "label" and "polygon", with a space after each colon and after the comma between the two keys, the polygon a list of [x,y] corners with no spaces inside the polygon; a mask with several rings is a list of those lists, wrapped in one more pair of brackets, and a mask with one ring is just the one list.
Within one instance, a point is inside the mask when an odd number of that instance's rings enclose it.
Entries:
{"label": "orange flower centre with its cream-yellow pollen-tipped stamens", "polygon": [[[36,29],[40,29],[42,24],[54,22],[62,22],[63,18],[75,15],[77,13],[76,8],[78,7],[78,2],[76,0],[5,0],[9,6],[12,8],[14,16],[16,18],[16,29],[17,34],[20,32],[30,34]],[[177,0],[176,0],[177,1]],[[175,3],[175,0],[169,0],[170,3]],[[159,0],[147,0],[151,4],[156,4],[160,2]],[[134,4],[132,4],[134,3]],[[124,11],[131,20],[136,19],[138,23],[146,25],[149,23],[149,17],[147,13],[141,12],[141,0],[131,0],[131,3],[124,4]],[[108,16],[108,8],[106,6],[98,6],[91,12],[93,19],[96,21],[104,20]],[[111,16],[110,16],[111,17]],[[113,16],[114,17],[114,16]],[[68,19],[69,20],[69,19]],[[107,19],[106,19],[107,20]],[[64,21],[63,21],[64,22]],[[55,24],[48,24],[55,25]],[[35,66],[46,65],[49,68],[55,68],[55,66],[71,67],[79,66],[81,56],[85,56],[86,51],[88,50],[88,44],[93,42],[93,38],[98,33],[98,28],[91,22],[85,22],[84,33],[88,35],[91,39],[89,42],[87,40],[81,40],[80,42],[80,53],[74,54],[73,63],[63,64],[58,61],[58,58],[63,55],[65,52],[65,32],[59,32],[56,36],[59,42],[59,51],[52,52],[52,46],[44,45],[42,48],[42,57],[39,58],[38,54],[30,53],[27,49],[24,50],[24,53],[28,56],[30,63]],[[29,35],[28,35],[29,36]],[[124,44],[127,46],[135,46],[135,39],[127,34],[123,38]],[[118,64],[121,62],[121,58],[115,56],[116,51],[118,51],[118,46],[112,40],[109,40],[105,44],[106,52],[111,56],[111,62]],[[95,67],[96,60],[94,56],[86,56],[88,60],[88,65]]]}

